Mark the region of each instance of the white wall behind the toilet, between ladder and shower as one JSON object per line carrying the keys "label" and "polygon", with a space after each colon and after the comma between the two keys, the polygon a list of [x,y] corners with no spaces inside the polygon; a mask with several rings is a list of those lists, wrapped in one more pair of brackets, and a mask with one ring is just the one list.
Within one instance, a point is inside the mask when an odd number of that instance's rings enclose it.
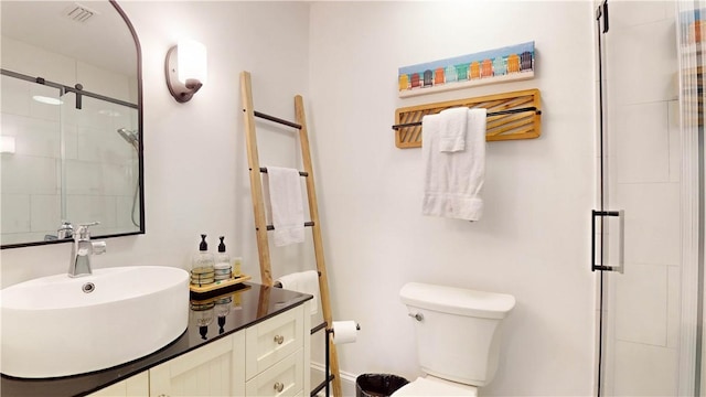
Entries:
{"label": "white wall behind the toilet, between ladder and shower", "polygon": [[[397,97],[399,66],[532,40],[532,81]],[[310,133],[333,312],[362,326],[339,346],[343,369],[419,374],[398,291],[429,281],[517,299],[482,395],[592,393],[592,49],[589,2],[312,3]],[[532,87],[543,136],[489,143],[483,218],[421,216],[421,154],[395,147],[395,108]]]}

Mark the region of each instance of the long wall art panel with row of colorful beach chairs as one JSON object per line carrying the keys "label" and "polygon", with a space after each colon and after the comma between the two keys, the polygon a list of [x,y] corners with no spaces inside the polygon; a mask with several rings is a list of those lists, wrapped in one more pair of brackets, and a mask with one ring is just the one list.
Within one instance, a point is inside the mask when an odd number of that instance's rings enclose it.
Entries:
{"label": "long wall art panel with row of colorful beach chairs", "polygon": [[528,79],[534,68],[534,42],[404,66],[398,72],[399,96]]}

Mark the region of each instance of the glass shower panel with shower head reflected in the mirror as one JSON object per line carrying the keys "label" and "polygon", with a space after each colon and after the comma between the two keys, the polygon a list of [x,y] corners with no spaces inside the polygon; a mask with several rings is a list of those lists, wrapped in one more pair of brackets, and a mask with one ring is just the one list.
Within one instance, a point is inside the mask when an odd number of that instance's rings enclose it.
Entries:
{"label": "glass shower panel with shower head reflected in the mirror", "polygon": [[98,95],[63,96],[63,213],[92,233],[140,230],[137,109]]}

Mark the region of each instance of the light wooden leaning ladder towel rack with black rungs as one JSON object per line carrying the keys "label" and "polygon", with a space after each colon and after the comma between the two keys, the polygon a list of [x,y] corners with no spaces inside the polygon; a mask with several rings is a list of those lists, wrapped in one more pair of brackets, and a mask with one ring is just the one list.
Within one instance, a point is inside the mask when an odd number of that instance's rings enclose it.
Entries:
{"label": "light wooden leaning ladder towel rack with black rungs", "polygon": [[[240,98],[243,103],[243,112],[245,119],[245,143],[247,146],[247,161],[250,174],[250,194],[253,196],[253,211],[255,213],[255,233],[257,236],[257,249],[260,262],[261,282],[266,286],[272,286],[272,273],[269,257],[269,243],[267,232],[272,230],[271,225],[267,225],[265,216],[265,204],[263,198],[263,181],[260,173],[267,172],[267,169],[259,164],[257,151],[257,137],[255,133],[255,117],[263,118],[280,125],[292,127],[299,130],[299,143],[301,146],[301,159],[304,171],[299,174],[307,181],[307,196],[309,202],[309,215],[311,222],[304,223],[304,226],[311,227],[313,234],[314,255],[317,260],[317,270],[319,272],[319,292],[321,298],[321,311],[323,312],[323,321],[328,326],[332,326],[331,315],[331,298],[329,294],[329,280],[327,277],[327,268],[323,258],[323,244],[321,240],[321,225],[319,223],[319,210],[317,202],[317,192],[313,184],[313,167],[311,163],[311,152],[309,150],[309,136],[307,133],[307,118],[304,115],[303,98],[301,95],[295,96],[295,112],[297,122],[290,122],[278,117],[269,116],[256,111],[253,107],[253,89],[249,72],[240,73]],[[341,376],[339,373],[339,360],[333,340],[327,331],[327,343],[329,347],[329,357],[332,379],[324,379],[324,383],[333,383],[333,395],[341,397]],[[304,368],[309,371],[309,368]],[[328,374],[327,374],[328,376]],[[328,390],[328,387],[327,387]]]}

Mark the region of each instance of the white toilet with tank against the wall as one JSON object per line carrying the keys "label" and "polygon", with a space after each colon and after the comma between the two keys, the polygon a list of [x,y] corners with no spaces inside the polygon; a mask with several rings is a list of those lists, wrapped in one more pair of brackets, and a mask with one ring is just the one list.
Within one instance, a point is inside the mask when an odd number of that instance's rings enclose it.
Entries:
{"label": "white toilet with tank against the wall", "polygon": [[393,396],[477,396],[498,369],[499,329],[515,298],[420,282],[405,285],[399,297],[415,323],[425,376]]}

